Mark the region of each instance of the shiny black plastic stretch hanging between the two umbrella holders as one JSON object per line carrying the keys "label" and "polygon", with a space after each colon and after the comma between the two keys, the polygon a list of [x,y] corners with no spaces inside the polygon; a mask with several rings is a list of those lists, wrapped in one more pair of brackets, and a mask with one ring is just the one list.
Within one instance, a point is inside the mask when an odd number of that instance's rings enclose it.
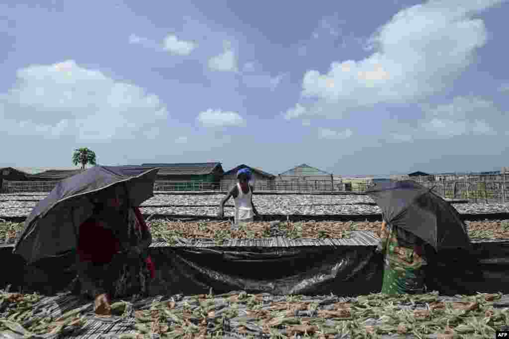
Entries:
{"label": "shiny black plastic stretch hanging between the two umbrella holders", "polygon": [[[155,293],[358,295],[377,292],[381,258],[372,246],[291,249],[165,249],[151,254]],[[157,291],[156,291],[157,290]]]}

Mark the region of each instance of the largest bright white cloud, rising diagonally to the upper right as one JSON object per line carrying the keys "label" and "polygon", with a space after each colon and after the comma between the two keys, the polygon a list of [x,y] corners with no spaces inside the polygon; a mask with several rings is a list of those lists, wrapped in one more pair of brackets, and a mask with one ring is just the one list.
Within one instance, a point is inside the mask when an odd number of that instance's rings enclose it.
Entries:
{"label": "largest bright white cloud, rising diagonally to the upper right", "polygon": [[334,61],[324,74],[307,71],[300,103],[333,103],[335,109],[310,113],[337,116],[349,108],[415,102],[438,93],[486,44],[486,27],[475,15],[500,2],[429,1],[400,11],[369,39],[370,56]]}

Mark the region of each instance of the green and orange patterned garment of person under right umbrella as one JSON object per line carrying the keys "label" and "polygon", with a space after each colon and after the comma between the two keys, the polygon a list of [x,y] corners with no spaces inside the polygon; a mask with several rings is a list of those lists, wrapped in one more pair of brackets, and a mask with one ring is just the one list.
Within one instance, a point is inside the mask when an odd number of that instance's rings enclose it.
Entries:
{"label": "green and orange patterned garment of person under right umbrella", "polygon": [[403,229],[391,226],[380,235],[378,250],[385,254],[382,293],[425,293],[422,241]]}

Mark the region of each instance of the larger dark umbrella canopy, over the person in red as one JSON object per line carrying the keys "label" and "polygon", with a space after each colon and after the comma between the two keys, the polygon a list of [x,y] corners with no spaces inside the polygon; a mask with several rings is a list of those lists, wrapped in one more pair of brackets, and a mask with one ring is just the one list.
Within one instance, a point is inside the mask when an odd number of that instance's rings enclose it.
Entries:
{"label": "larger dark umbrella canopy, over the person in red", "polygon": [[92,216],[89,195],[125,183],[130,204],[139,206],[154,195],[157,171],[142,166],[94,166],[60,181],[25,220],[13,253],[31,264],[74,250],[79,225]]}

